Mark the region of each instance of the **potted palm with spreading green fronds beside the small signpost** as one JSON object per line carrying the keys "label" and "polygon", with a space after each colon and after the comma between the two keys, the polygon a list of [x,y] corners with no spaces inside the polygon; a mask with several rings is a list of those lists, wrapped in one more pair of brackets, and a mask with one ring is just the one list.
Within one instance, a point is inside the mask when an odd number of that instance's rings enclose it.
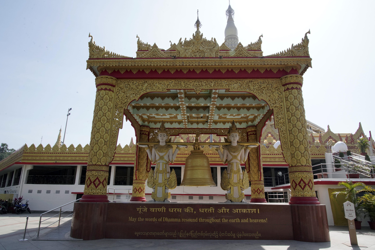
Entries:
{"label": "potted palm with spreading green fronds beside the small signpost", "polygon": [[[345,199],[350,201],[354,204],[354,211],[356,218],[354,219],[355,229],[361,229],[361,221],[358,221],[358,215],[363,212],[363,208],[358,206],[358,197],[357,194],[361,192],[374,192],[375,189],[366,186],[364,183],[356,182],[353,183],[352,181],[346,182],[339,182],[338,186],[344,186],[345,189],[341,191],[336,191],[331,194],[333,199],[336,199],[338,195],[345,195]],[[357,189],[358,187],[362,187],[362,189]]]}

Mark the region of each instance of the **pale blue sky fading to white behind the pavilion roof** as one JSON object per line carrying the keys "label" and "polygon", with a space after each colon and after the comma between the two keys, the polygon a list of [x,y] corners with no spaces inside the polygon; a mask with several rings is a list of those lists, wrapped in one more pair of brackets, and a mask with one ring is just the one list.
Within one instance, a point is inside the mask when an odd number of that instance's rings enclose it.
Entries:
{"label": "pale blue sky fading to white behind the pavilion roof", "polygon": [[[375,1],[231,0],[231,7],[239,41],[247,45],[263,34],[265,56],[311,30],[307,120],[334,133],[354,133],[359,122],[367,136],[375,132]],[[89,32],[107,50],[136,57],[137,35],[164,49],[190,39],[199,9],[204,37],[222,44],[227,8],[228,0],[2,0],[0,143],[53,146],[70,107],[65,143],[89,143],[96,91],[86,70]],[[125,123],[118,143],[131,137]]]}

